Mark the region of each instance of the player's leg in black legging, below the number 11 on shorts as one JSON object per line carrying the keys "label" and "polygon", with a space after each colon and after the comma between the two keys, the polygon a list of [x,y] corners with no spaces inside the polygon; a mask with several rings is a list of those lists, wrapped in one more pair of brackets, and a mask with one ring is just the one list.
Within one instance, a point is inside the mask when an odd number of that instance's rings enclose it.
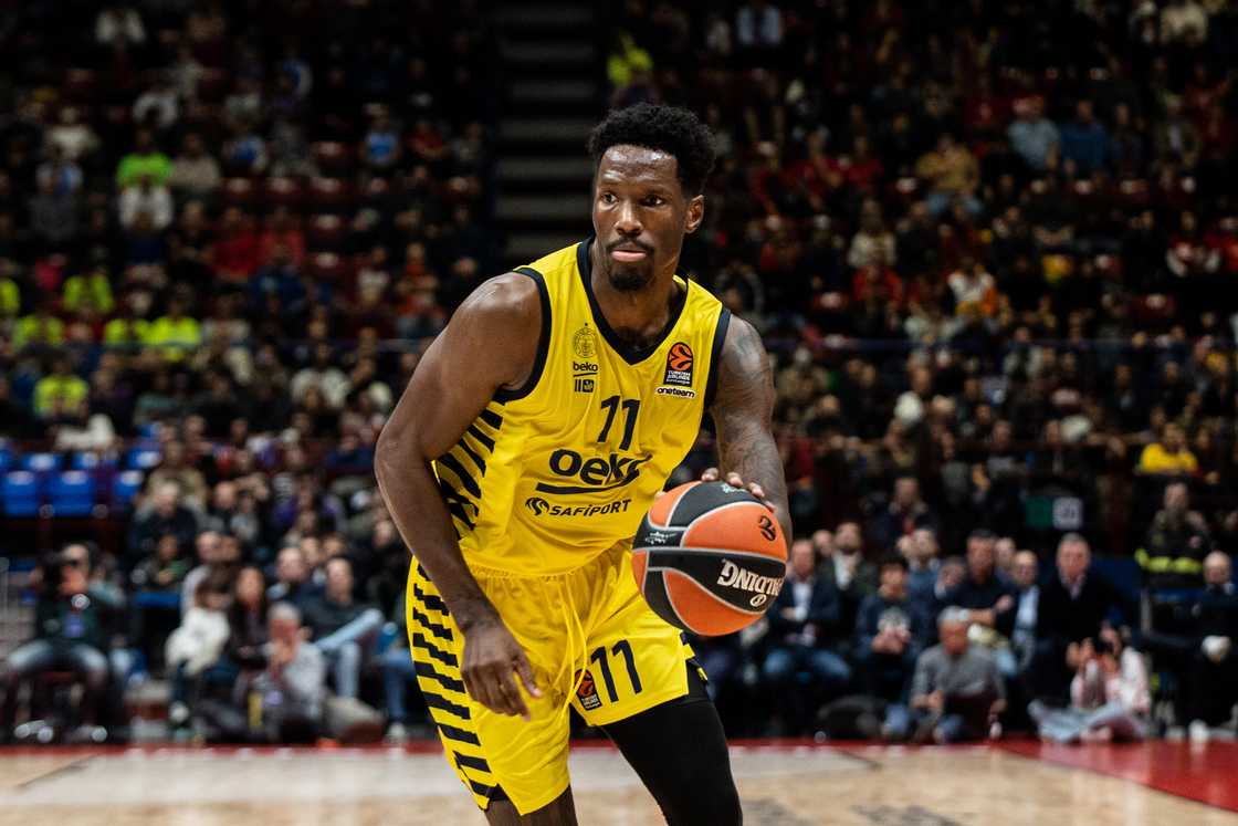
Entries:
{"label": "player's leg in black legging, below the number 11 on shorts", "polygon": [[743,822],[722,721],[688,665],[688,693],[603,726],[670,826]]}

